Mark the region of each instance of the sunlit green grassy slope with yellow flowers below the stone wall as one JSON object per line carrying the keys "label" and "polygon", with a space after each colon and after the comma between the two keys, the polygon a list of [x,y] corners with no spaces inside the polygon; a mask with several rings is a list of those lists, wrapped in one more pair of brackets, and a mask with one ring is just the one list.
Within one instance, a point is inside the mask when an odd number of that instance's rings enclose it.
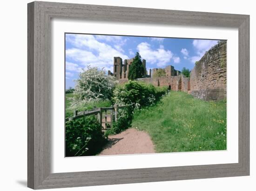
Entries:
{"label": "sunlit green grassy slope with yellow flowers below the stone wall", "polygon": [[132,127],[151,136],[158,153],[226,149],[226,101],[206,102],[171,91],[162,101],[135,112]]}

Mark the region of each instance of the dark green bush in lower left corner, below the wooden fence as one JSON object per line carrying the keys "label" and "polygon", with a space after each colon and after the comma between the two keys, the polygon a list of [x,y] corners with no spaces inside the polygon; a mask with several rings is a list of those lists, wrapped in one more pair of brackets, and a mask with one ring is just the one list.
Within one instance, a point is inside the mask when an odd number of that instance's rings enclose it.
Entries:
{"label": "dark green bush in lower left corner, below the wooden fence", "polygon": [[66,157],[95,155],[106,141],[94,115],[66,122]]}

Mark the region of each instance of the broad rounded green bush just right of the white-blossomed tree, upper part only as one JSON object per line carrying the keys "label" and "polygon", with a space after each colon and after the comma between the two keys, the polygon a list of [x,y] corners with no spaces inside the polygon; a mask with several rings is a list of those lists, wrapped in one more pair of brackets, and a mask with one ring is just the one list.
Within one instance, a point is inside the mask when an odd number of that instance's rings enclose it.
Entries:
{"label": "broad rounded green bush just right of the white-blossomed tree, upper part only", "polygon": [[115,88],[113,102],[120,105],[131,105],[133,109],[153,105],[167,92],[167,87],[156,89],[154,85],[129,81]]}

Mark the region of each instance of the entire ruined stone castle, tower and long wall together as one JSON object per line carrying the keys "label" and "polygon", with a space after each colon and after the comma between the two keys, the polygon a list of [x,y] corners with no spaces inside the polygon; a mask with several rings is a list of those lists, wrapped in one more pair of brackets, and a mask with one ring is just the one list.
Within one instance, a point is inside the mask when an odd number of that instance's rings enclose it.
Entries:
{"label": "entire ruined stone castle, tower and long wall together", "polygon": [[[134,58],[125,59],[114,57],[114,73],[108,70],[108,75],[115,76],[119,83],[128,81],[129,67]],[[185,77],[172,65],[164,68],[165,76],[153,77],[157,68],[146,69],[146,60],[142,60],[145,70],[143,78],[136,79],[155,86],[171,86],[172,90],[184,91],[202,100],[220,100],[227,97],[227,41],[221,40],[217,45],[207,51]]]}

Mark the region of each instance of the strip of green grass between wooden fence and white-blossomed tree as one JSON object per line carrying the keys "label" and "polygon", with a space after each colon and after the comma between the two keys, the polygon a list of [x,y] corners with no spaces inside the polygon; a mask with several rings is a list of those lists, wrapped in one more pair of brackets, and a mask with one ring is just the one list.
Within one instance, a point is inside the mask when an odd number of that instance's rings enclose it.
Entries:
{"label": "strip of green grass between wooden fence and white-blossomed tree", "polygon": [[101,102],[94,102],[94,103],[91,103],[91,104],[86,104],[86,105],[83,105],[79,108],[75,108],[75,109],[70,109],[70,105],[71,105],[71,102],[68,98],[72,97],[73,96],[73,93],[68,93],[65,95],[65,107],[66,107],[66,117],[70,117],[73,115],[74,113],[74,110],[78,110],[78,111],[86,111],[86,110],[90,110],[90,109],[93,109],[94,107],[96,108],[104,108],[104,107],[110,107],[111,106],[111,102],[109,100],[106,100],[106,101],[101,101]]}

